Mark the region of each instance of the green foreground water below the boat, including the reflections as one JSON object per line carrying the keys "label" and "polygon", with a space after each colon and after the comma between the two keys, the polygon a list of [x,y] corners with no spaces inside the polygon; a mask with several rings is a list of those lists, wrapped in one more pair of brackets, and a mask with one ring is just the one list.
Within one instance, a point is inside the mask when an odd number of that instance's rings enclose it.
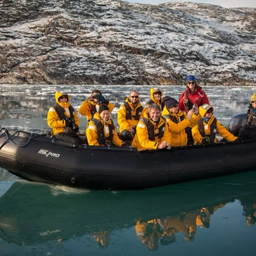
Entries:
{"label": "green foreground water below the boat, including the reflections", "polygon": [[125,192],[1,177],[1,255],[254,254],[256,171]]}

